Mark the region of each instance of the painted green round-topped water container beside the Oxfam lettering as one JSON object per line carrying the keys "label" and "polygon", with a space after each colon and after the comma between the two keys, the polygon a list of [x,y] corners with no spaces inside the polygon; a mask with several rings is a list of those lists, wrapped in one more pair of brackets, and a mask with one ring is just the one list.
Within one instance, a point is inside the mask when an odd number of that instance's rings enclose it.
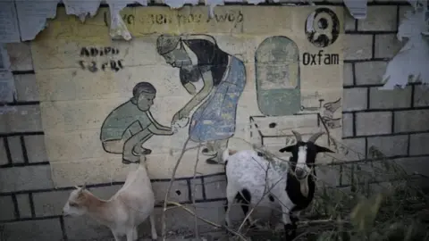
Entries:
{"label": "painted green round-topped water container beside the Oxfam lettering", "polygon": [[268,116],[299,112],[299,49],[289,37],[267,37],[255,54],[257,104]]}

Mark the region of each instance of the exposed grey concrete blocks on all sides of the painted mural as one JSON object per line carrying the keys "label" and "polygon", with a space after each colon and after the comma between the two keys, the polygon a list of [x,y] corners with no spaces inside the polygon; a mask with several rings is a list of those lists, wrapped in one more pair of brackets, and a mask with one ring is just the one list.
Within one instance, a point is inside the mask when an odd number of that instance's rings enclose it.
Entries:
{"label": "exposed grey concrete blocks on all sides of the painted mural", "polygon": [[[315,1],[319,4],[318,1]],[[346,21],[343,143],[368,158],[374,145],[408,172],[429,175],[429,90],[418,84],[399,90],[379,90],[389,59],[400,49],[395,35],[407,2],[368,1],[364,21]],[[337,3],[338,4],[338,3]],[[110,231],[88,218],[63,218],[61,209],[73,187],[55,189],[41,131],[38,87],[29,43],[7,45],[12,62],[17,99],[0,115],[0,237],[3,240],[105,240]],[[338,167],[324,167],[320,178],[332,186],[347,186]],[[154,179],[158,200],[169,179]],[[195,188],[194,187],[195,184]],[[109,198],[122,183],[89,186]],[[223,173],[197,179],[177,179],[172,200],[190,204],[208,220],[223,223],[225,179]],[[160,214],[162,209],[156,208]],[[237,211],[240,212],[240,211]],[[240,216],[240,215],[238,215]],[[193,217],[180,209],[167,212],[167,227],[179,233],[193,229]],[[157,215],[160,232],[160,215]],[[201,231],[212,229],[198,222]],[[148,236],[148,224],[140,236]],[[25,231],[24,231],[25,230]]]}

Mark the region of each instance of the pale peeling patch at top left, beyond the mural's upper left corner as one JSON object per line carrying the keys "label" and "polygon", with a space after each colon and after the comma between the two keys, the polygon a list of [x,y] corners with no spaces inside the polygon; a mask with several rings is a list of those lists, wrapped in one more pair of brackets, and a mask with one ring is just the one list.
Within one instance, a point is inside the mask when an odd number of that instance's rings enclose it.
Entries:
{"label": "pale peeling patch at top left, beyond the mural's upper left corner", "polygon": [[58,0],[20,0],[15,1],[21,40],[32,40],[46,28],[46,19],[54,19]]}

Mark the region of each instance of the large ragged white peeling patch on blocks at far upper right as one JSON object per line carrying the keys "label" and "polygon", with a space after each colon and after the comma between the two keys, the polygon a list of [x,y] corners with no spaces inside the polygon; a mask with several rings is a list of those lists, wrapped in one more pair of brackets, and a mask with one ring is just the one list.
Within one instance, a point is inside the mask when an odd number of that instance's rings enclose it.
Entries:
{"label": "large ragged white peeling patch on blocks at far upper right", "polygon": [[385,84],[380,89],[405,87],[408,81],[429,83],[429,39],[425,37],[429,27],[427,1],[421,4],[420,7],[416,5],[415,11],[406,12],[405,19],[400,22],[397,37],[400,41],[406,37],[408,41],[388,63],[383,75]]}

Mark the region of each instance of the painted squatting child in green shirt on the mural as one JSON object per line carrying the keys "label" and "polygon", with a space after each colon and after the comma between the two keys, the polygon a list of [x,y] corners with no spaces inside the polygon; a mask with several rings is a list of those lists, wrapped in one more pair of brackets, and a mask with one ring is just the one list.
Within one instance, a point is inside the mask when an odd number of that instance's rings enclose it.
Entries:
{"label": "painted squatting child in green shirt on the mural", "polygon": [[139,82],[132,89],[132,98],[119,105],[105,118],[100,139],[105,152],[122,154],[122,162],[139,162],[140,155],[152,151],[143,144],[154,135],[171,136],[176,129],[159,124],[150,112],[156,88],[148,82]]}

